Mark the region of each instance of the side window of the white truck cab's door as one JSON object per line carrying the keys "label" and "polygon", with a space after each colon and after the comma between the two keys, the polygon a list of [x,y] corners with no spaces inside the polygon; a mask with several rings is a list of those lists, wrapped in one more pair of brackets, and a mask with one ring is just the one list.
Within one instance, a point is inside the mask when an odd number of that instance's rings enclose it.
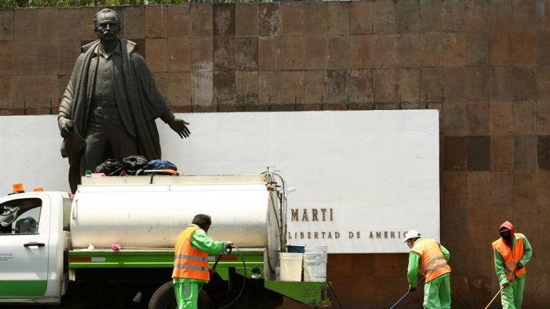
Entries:
{"label": "side window of the white truck cab's door", "polygon": [[0,235],[37,233],[41,209],[39,198],[21,198],[1,204]]}

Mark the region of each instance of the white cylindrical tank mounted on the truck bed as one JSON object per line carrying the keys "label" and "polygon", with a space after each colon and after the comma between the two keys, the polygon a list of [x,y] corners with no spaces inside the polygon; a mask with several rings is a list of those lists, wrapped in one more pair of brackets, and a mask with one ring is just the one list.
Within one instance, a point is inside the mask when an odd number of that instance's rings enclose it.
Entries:
{"label": "white cylindrical tank mounted on the truck bed", "polygon": [[189,177],[83,178],[71,210],[73,248],[173,247],[196,214],[212,216],[208,234],[216,240],[268,247],[277,224],[265,182]]}

